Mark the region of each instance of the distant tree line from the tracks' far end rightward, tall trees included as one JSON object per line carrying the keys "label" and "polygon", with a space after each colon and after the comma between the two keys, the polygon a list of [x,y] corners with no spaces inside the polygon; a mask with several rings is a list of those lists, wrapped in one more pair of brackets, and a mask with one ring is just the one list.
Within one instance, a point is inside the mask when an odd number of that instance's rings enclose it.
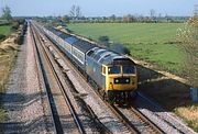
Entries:
{"label": "distant tree line from the tracks' far end rightward, tall trees included", "polygon": [[48,22],[53,25],[66,26],[67,23],[184,23],[189,16],[170,16],[165,14],[164,16],[160,13],[156,14],[154,9],[150,10],[150,15],[133,15],[125,14],[123,16],[117,16],[112,14],[110,16],[84,16],[81,8],[79,5],[72,5],[68,14],[63,16],[46,16],[37,18],[43,22]]}

